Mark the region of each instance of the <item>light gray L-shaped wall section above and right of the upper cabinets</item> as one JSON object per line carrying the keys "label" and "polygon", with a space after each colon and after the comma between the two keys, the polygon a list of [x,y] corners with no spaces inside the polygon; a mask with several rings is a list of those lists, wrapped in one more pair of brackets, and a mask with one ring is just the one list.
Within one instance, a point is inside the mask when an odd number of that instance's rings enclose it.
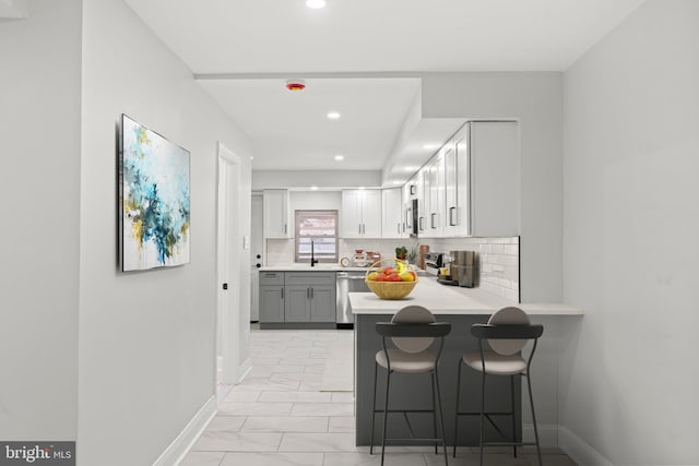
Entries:
{"label": "light gray L-shaped wall section above and right of the upper cabinets", "polygon": [[428,73],[423,117],[516,118],[521,138],[522,301],[562,298],[562,75]]}

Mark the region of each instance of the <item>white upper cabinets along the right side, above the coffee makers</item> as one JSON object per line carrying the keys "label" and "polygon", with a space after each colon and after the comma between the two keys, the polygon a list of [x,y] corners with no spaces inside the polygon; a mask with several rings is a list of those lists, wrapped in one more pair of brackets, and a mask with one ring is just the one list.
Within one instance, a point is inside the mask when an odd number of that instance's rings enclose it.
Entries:
{"label": "white upper cabinets along the right side, above the coffee makers", "polygon": [[518,141],[511,121],[472,121],[459,130],[403,190],[413,193],[403,201],[405,218],[417,200],[418,236],[519,235]]}

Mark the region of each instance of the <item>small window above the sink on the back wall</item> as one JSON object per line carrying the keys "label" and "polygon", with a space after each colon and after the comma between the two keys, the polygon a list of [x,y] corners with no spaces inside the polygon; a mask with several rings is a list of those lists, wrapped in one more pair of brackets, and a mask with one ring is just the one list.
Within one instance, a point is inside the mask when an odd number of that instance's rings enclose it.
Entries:
{"label": "small window above the sink on the back wall", "polygon": [[337,211],[295,211],[295,261],[337,262]]}

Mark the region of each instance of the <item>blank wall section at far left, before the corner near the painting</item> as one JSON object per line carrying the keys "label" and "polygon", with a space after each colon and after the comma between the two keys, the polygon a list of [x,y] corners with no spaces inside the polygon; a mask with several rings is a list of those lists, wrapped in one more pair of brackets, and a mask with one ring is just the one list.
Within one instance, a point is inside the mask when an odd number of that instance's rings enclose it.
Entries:
{"label": "blank wall section at far left, before the corner near the painting", "polygon": [[2,440],[75,440],[81,4],[0,23]]}

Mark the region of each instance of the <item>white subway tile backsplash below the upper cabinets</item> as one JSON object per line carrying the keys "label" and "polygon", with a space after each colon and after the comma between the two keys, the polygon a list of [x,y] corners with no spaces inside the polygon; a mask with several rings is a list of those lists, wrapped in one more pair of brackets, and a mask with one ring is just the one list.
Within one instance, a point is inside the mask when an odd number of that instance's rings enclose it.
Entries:
{"label": "white subway tile backsplash below the upper cabinets", "polygon": [[[413,239],[340,239],[340,256],[352,258],[355,249],[378,251],[381,258],[393,258],[395,248],[408,250],[428,244],[430,251],[476,251],[479,261],[479,288],[519,302],[520,298],[520,241],[512,238],[425,238]],[[293,239],[268,239],[265,265],[294,263]]]}

